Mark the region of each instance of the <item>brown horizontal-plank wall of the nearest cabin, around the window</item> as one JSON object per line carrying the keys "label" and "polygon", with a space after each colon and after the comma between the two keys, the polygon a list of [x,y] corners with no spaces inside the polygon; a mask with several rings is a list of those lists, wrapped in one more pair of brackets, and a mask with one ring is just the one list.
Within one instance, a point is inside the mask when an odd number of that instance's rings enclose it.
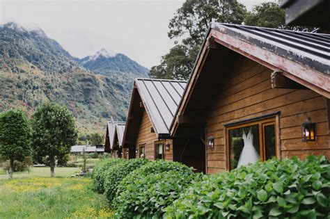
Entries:
{"label": "brown horizontal-plank wall of the nearest cabin, around the window", "polygon": [[[237,58],[220,84],[207,111],[206,134],[214,136],[214,148],[207,148],[207,173],[226,170],[223,124],[281,111],[278,120],[280,159],[308,154],[330,157],[329,99],[311,90],[273,89],[272,71],[248,58]],[[301,123],[316,122],[315,143],[301,142]]]}

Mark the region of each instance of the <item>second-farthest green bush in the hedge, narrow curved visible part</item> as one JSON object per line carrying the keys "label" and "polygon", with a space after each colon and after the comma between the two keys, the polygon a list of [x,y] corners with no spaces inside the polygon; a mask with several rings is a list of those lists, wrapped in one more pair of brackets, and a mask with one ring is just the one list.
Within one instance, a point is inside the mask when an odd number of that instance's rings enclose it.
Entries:
{"label": "second-farthest green bush in the hedge, narrow curved visible part", "polygon": [[120,181],[129,175],[133,170],[140,168],[142,165],[149,163],[148,159],[130,159],[124,162],[117,163],[111,166],[104,172],[104,195],[107,197],[109,203],[115,197]]}

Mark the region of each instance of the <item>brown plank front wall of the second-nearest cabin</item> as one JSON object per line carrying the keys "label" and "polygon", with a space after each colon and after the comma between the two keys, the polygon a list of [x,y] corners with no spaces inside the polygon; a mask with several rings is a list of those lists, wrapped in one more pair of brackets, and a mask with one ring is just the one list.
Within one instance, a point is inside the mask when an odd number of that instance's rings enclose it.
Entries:
{"label": "brown plank front wall of the second-nearest cabin", "polygon": [[[145,145],[146,150],[146,159],[150,159],[152,161],[155,160],[155,142],[158,141],[157,134],[150,132],[150,128],[152,124],[148,117],[146,111],[143,112],[143,117],[141,121],[141,125],[139,127],[139,134],[136,138],[136,149],[139,149],[139,145]],[[164,140],[165,143],[170,144],[170,151],[165,152],[165,159],[168,161],[173,161],[173,141],[172,140]]]}

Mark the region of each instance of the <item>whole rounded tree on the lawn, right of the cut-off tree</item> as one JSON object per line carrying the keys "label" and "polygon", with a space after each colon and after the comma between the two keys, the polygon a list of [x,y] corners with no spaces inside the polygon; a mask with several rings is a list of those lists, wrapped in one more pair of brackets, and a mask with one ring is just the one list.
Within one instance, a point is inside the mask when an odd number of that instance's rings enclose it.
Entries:
{"label": "whole rounded tree on the lawn, right of the cut-off tree", "polygon": [[33,157],[48,164],[51,177],[54,177],[56,161],[65,160],[65,154],[77,139],[74,117],[68,108],[47,102],[36,109],[31,124]]}

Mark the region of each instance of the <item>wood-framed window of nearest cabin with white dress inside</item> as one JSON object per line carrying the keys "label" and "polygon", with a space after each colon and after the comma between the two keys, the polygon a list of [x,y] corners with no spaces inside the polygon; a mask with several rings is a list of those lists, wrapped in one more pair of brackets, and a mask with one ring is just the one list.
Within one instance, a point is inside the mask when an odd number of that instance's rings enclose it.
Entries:
{"label": "wood-framed window of nearest cabin with white dress inside", "polygon": [[227,127],[227,165],[230,170],[276,156],[275,117]]}

